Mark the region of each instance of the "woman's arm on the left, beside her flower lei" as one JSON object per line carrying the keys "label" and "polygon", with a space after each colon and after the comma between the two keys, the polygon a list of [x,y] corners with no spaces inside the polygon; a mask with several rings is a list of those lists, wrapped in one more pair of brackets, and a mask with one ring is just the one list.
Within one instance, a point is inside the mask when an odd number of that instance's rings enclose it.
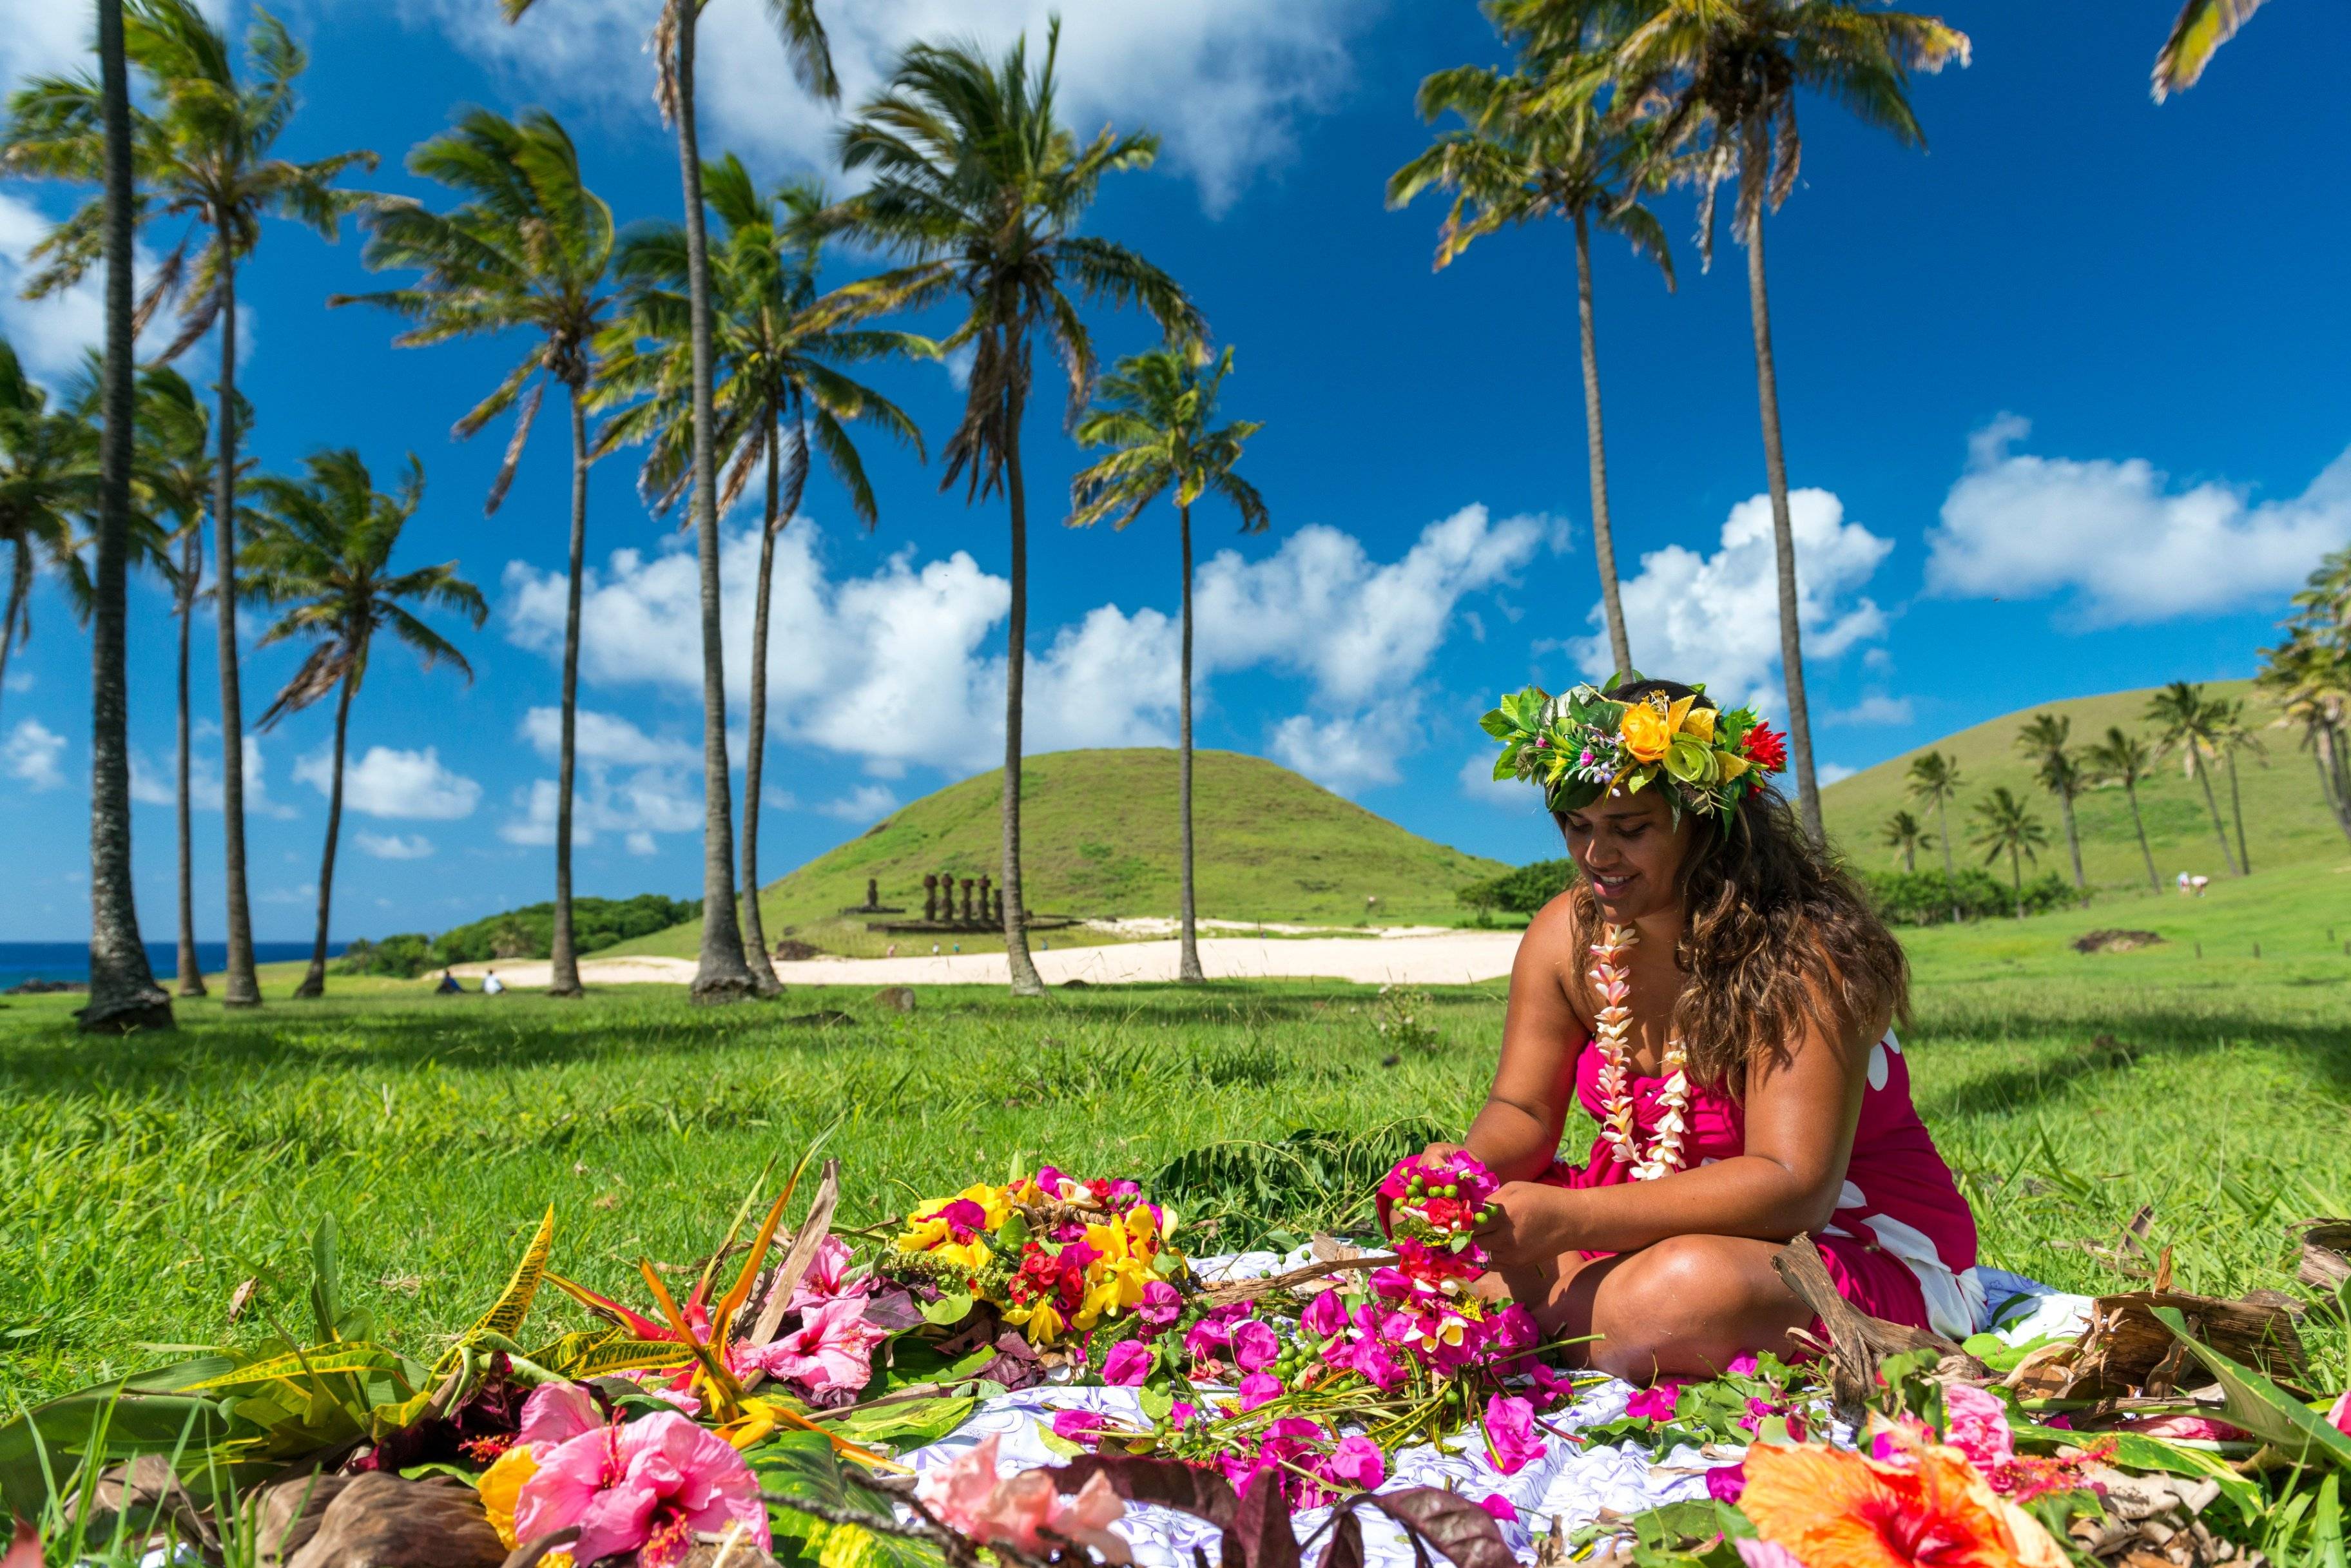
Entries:
{"label": "woman's arm on the left, beside her flower lei", "polygon": [[1526,926],[1509,966],[1509,1013],[1502,1020],[1502,1060],[1486,1105],[1469,1124],[1467,1150],[1505,1182],[1535,1178],[1559,1152],[1559,1128],[1575,1095],[1575,1053],[1592,1037],[1578,1016],[1570,976],[1575,917],[1566,893]]}

